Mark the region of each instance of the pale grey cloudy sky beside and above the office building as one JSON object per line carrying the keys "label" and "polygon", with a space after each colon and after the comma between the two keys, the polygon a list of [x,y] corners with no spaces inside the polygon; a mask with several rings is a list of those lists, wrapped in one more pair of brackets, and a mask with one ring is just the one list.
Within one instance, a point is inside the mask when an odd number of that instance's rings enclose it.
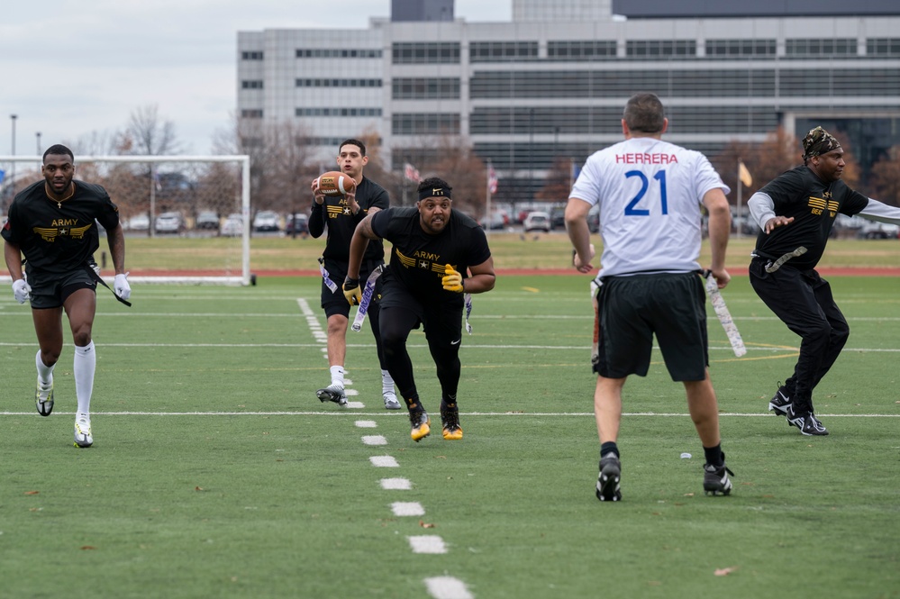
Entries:
{"label": "pale grey cloudy sky beside and above the office building", "polygon": [[[320,9],[329,6],[327,12]],[[511,0],[456,0],[457,18],[509,21]],[[340,12],[334,8],[340,7]],[[235,108],[237,32],[368,27],[390,0],[5,0],[0,155],[112,135],[156,104],[185,153],[205,154]]]}

